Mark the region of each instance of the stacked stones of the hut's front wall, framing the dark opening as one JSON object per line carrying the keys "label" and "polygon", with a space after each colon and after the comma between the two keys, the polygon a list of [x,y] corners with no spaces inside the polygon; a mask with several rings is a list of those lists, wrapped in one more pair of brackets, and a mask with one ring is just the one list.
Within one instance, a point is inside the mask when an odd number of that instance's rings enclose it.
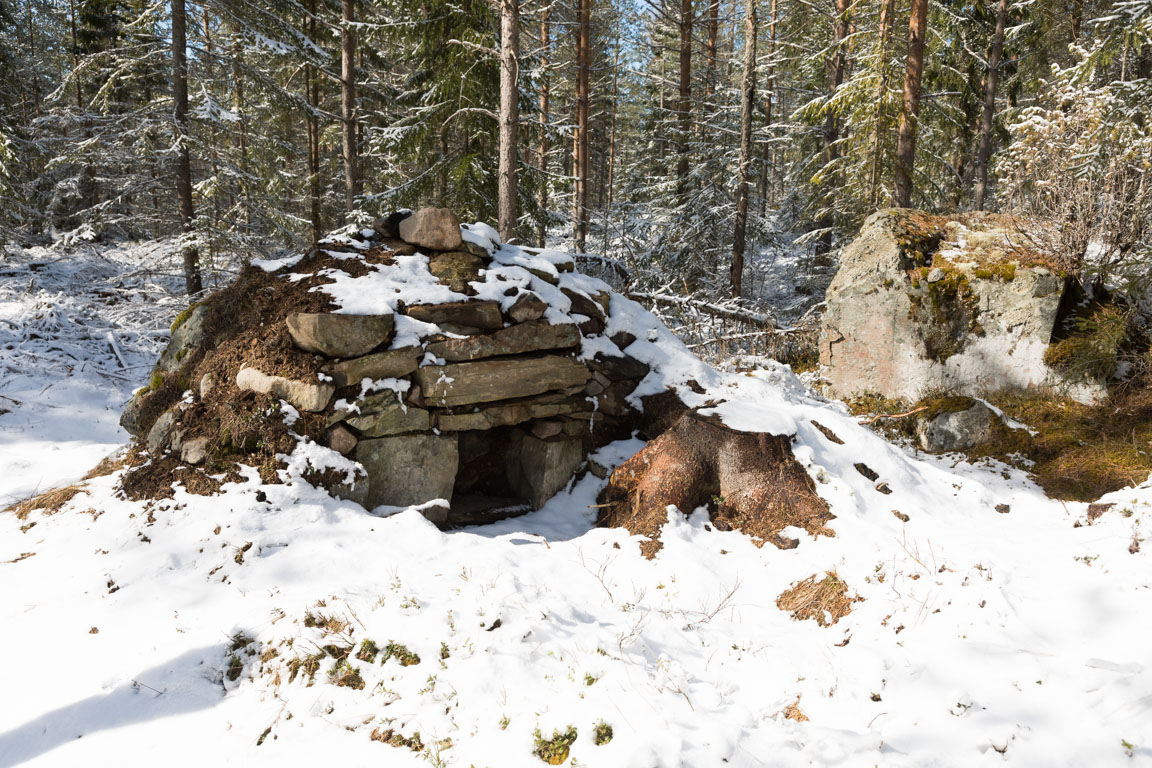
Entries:
{"label": "stacked stones of the hut's front wall, framing the dark opening", "polygon": [[[444,208],[393,214],[365,235],[373,248],[426,254],[432,275],[465,296],[475,294],[469,283],[492,261],[487,248],[462,238],[456,216]],[[570,259],[552,264],[559,273],[575,268]],[[524,268],[560,286],[550,272]],[[605,330],[607,291],[561,287],[574,320],[583,319],[553,324],[544,317],[550,305],[540,295],[516,290],[505,310],[501,302],[479,298],[401,304],[399,312],[441,333],[400,348],[393,344],[393,314],[289,314],[295,345],[325,358],[318,380],[291,381],[245,367],[236,383],[326,415],[327,446],[366,471],[335,491],[369,509],[455,494],[450,510],[432,505],[425,515],[462,524],[539,508],[568,484],[590,450],[627,436],[634,415],[627,397],[649,367],[622,351],[578,359],[584,339]],[[632,341],[624,333],[598,343],[619,350]],[[382,390],[362,387],[381,379],[395,381]],[[501,478],[502,495],[485,493],[493,477]]]}

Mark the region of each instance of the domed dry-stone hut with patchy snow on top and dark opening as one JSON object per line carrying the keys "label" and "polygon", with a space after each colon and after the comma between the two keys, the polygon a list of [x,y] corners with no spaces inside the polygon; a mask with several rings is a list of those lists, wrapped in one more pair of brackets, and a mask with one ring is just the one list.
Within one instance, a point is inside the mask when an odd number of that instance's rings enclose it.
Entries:
{"label": "domed dry-stone hut with patchy snow on top and dark opening", "polygon": [[[195,307],[176,328],[161,359],[164,381],[191,379],[199,391],[169,406],[150,405],[159,395],[145,390],[124,412],[122,424],[142,435],[151,455],[202,464],[221,454],[221,439],[203,425],[197,432],[195,418],[185,417],[200,403],[282,400],[306,419],[323,419],[318,439],[363,467],[354,482],[328,482],[334,493],[367,509],[444,500],[450,507],[427,505],[425,515],[450,526],[540,507],[591,450],[631,434],[637,412],[628,396],[649,366],[622,350],[634,341],[629,334],[615,342],[600,335],[612,296],[576,274],[570,257],[501,252],[494,233],[462,230],[440,208],[394,214],[374,230],[318,249],[343,266],[342,280],[395,281],[388,311],[282,313],[273,330],[287,332],[291,359],[305,363],[306,373],[283,375],[274,365],[241,360],[199,374],[217,353],[203,329],[210,297],[207,309]],[[287,265],[260,275],[259,290],[296,290],[285,287],[325,269]],[[281,282],[268,288],[268,281]],[[585,349],[593,335],[594,348]],[[142,418],[150,408],[166,410]]]}

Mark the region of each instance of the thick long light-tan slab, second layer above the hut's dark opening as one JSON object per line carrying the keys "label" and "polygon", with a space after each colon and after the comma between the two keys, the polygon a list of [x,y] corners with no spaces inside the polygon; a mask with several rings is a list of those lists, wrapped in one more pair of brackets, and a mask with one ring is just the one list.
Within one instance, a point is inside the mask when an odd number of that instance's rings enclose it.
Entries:
{"label": "thick long light-tan slab, second layer above the hut's dark opening", "polygon": [[591,375],[570,357],[544,355],[425,366],[415,378],[425,403],[453,408],[583,387]]}

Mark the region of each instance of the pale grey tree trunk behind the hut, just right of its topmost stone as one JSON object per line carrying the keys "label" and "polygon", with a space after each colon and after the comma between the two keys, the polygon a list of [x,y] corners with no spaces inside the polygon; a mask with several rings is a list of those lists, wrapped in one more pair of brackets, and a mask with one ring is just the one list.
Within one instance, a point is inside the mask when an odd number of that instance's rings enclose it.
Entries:
{"label": "pale grey tree trunk behind the hut, just right of its topmost stone", "polygon": [[520,131],[520,0],[500,0],[500,167],[497,200],[500,239],[516,237]]}

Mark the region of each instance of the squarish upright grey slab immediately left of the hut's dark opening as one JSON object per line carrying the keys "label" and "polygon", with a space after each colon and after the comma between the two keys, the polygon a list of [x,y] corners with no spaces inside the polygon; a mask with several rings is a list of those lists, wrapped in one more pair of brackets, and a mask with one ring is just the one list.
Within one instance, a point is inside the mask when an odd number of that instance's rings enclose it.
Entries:
{"label": "squarish upright grey slab immediately left of the hut's dark opening", "polygon": [[460,464],[455,435],[361,440],[353,455],[367,472],[367,491],[361,502],[367,509],[452,500]]}

